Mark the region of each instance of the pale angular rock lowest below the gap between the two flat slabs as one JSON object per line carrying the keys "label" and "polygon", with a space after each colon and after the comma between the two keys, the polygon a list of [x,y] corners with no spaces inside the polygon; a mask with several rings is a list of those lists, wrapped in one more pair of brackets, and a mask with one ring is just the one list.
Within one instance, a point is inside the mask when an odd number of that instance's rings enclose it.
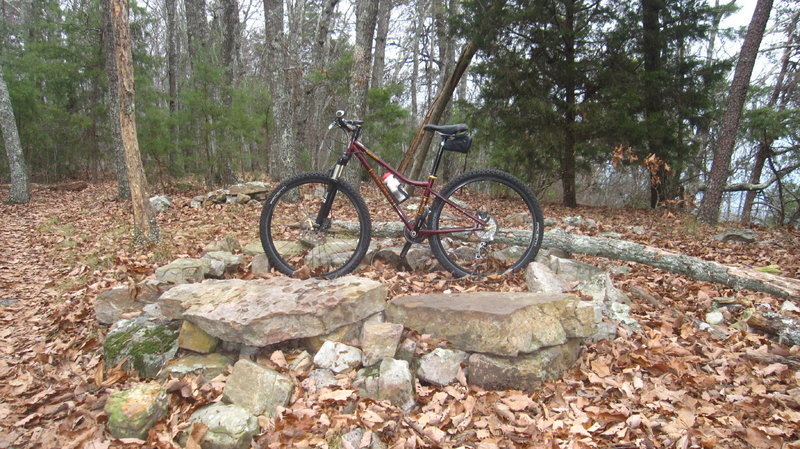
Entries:
{"label": "pale angular rock lowest below the gap between the two flat slabs", "polygon": [[405,360],[383,359],[358,372],[353,386],[361,396],[387,400],[405,412],[414,408],[414,377]]}

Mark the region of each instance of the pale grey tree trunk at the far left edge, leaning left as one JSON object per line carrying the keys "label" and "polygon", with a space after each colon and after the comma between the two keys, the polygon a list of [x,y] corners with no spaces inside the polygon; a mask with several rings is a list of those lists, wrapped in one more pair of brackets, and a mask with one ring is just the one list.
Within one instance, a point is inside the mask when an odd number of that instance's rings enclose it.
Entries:
{"label": "pale grey tree trunk at the far left edge, leaning left", "polygon": [[8,169],[11,172],[11,191],[8,192],[5,201],[15,204],[28,203],[31,200],[28,191],[28,172],[25,169],[25,158],[19,142],[17,121],[14,119],[14,110],[11,107],[11,97],[8,95],[2,64],[0,64],[0,131],[3,132]]}

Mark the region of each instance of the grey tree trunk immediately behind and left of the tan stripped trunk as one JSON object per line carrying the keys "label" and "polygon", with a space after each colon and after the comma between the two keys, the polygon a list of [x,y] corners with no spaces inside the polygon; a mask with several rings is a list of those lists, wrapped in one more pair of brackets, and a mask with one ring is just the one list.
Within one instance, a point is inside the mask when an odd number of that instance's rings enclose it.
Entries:
{"label": "grey tree trunk immediately behind and left of the tan stripped trunk", "polygon": [[[113,29],[109,2],[103,1],[103,40],[105,51],[105,68],[108,76],[106,101],[109,105],[119,104],[119,77],[117,76],[116,39]],[[128,182],[128,165],[125,161],[125,147],[122,145],[122,131],[119,128],[119,108],[108,108],[108,128],[111,134],[111,152],[114,161],[114,173],[117,177],[117,198],[131,199],[131,186]]]}

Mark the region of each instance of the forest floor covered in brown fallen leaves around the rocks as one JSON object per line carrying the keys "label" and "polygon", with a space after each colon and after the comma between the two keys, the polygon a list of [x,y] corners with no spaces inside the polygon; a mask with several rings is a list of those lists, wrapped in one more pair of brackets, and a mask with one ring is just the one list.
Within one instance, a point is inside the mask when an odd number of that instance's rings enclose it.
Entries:
{"label": "forest floor covered in brown fallen leaves around the rocks", "polygon": [[[0,188],[0,197],[6,193]],[[115,193],[111,184],[80,192],[42,188],[33,192],[30,204],[0,205],[0,448],[141,446],[112,441],[104,430],[106,397],[135,379],[103,368],[101,343],[108,329],[95,320],[94,298],[112,286],[152,276],[156,266],[180,255],[198,256],[215,238],[234,235],[243,243],[258,238],[259,207],[190,209],[191,197],[202,192],[173,191],[168,192],[173,209],[158,216],[164,243],[137,250],[130,244],[130,205],[116,201]],[[672,252],[727,265],[777,265],[784,276],[800,275],[796,230],[755,228],[760,241],[747,245],[718,242],[713,235],[724,225],[699,224],[679,211],[545,204],[544,212],[598,222],[570,232],[614,231]],[[631,231],[637,225],[646,229],[644,235]],[[343,414],[336,398],[301,395],[277,420],[262,420],[265,431],[258,444],[324,446],[360,426],[398,448],[800,448],[800,374],[780,363],[780,357],[800,356],[800,347],[727,326],[720,327],[724,336],[713,335],[686,319],[703,320],[716,297],[771,310],[783,300],[644,265],[577,257],[628,266],[628,274],[614,275],[615,284],[625,292],[644,289],[664,307],[631,295],[632,315],[643,332],[589,343],[563,379],[533,395],[458,384],[422,387],[417,392],[421,407],[408,416],[371,401]],[[525,288],[520,275],[476,283],[443,272],[397,272],[379,262],[356,274],[387,283],[390,297]],[[732,324],[737,316],[727,318]],[[220,383],[185,381],[171,388],[176,394],[170,414],[151,431],[146,447],[177,447],[170,440],[180,423],[218,397]]]}

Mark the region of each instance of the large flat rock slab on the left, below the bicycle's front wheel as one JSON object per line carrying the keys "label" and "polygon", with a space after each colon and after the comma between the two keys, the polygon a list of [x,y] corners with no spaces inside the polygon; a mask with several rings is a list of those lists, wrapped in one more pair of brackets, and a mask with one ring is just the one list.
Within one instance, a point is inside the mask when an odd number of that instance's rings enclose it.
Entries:
{"label": "large flat rock slab on the left, below the bicycle's front wheel", "polygon": [[217,338],[267,346],[316,337],[381,312],[387,288],[356,276],[333,280],[206,281],[176,286],[161,296],[161,311]]}

